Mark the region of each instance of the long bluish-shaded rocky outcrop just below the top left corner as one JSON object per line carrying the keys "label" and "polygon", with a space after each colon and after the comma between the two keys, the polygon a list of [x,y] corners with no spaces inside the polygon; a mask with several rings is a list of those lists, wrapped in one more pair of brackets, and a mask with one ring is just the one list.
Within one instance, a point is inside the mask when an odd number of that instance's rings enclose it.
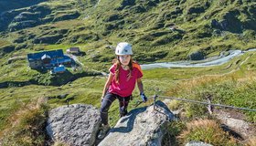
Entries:
{"label": "long bluish-shaded rocky outcrop just below the top left corner", "polygon": [[49,5],[42,4],[4,12],[0,15],[0,31],[6,28],[9,31],[16,31],[49,22],[75,19],[80,16],[78,11],[52,11],[54,10]]}

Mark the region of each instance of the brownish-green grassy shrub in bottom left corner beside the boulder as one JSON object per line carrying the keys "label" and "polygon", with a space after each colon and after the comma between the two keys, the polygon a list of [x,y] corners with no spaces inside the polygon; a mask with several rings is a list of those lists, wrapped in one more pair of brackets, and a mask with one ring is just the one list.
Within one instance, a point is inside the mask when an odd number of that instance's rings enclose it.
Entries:
{"label": "brownish-green grassy shrub in bottom left corner beside the boulder", "polygon": [[44,145],[48,106],[41,101],[24,105],[9,119],[12,126],[3,132],[3,145]]}

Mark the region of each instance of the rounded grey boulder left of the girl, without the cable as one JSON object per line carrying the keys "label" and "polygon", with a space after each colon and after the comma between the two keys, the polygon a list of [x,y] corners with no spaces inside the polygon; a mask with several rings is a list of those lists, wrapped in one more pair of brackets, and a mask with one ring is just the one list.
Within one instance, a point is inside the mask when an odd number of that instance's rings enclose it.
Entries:
{"label": "rounded grey boulder left of the girl, without the cable", "polygon": [[100,111],[91,105],[63,106],[49,111],[47,133],[52,141],[72,146],[91,146],[100,122]]}

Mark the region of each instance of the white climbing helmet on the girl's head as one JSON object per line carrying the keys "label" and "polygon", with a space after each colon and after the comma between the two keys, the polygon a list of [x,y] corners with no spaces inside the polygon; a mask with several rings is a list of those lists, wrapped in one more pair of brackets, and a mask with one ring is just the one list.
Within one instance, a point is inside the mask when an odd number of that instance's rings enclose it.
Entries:
{"label": "white climbing helmet on the girl's head", "polygon": [[121,42],[115,48],[115,54],[118,56],[133,55],[132,46],[126,42]]}

